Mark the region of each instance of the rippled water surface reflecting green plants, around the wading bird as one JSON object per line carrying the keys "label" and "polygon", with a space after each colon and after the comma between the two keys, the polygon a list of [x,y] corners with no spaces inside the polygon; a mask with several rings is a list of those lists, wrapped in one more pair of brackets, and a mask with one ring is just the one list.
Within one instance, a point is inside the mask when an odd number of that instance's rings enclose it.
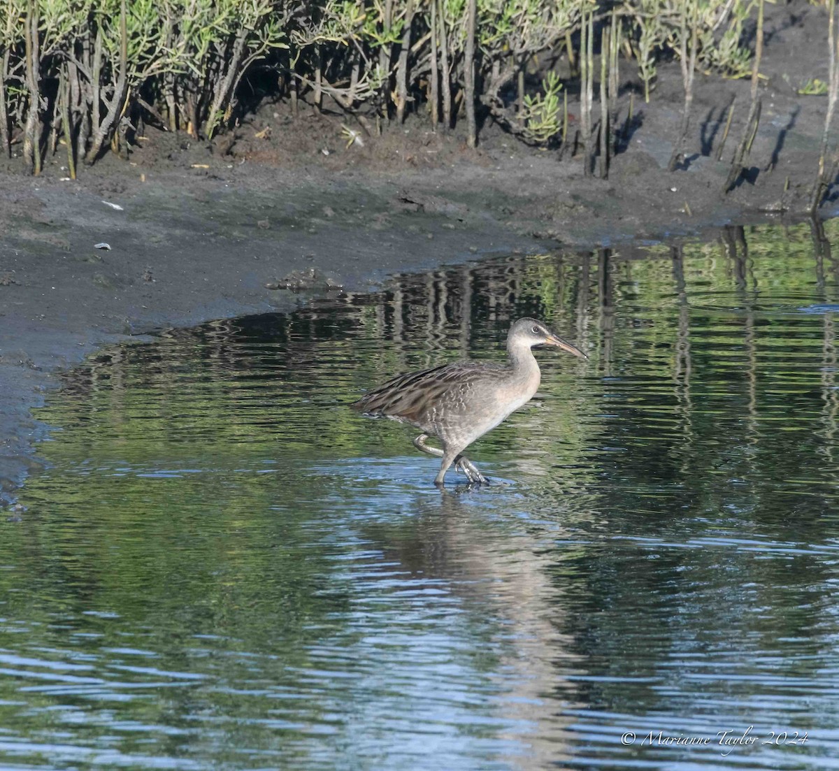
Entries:
{"label": "rippled water surface reflecting green plants, around the wading bird", "polygon": [[[837,225],[400,276],[70,372],[0,539],[3,768],[835,767]],[[346,405],[520,315],[591,361],[540,352],[470,451],[502,483],[440,495]]]}

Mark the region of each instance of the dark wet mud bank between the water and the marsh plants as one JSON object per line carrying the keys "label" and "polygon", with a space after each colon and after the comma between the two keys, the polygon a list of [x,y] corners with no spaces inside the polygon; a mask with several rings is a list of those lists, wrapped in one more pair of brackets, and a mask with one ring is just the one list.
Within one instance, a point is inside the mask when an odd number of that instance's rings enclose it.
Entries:
{"label": "dark wet mud bank between the water and the marsh plants", "polygon": [[[38,179],[23,174],[20,159],[8,161],[0,177],[0,502],[37,463],[33,445],[45,429],[29,409],[55,372],[103,343],[286,310],[312,293],[362,291],[388,273],[487,253],[631,244],[804,216],[826,96],[797,90],[826,80],[824,15],[806,3],[768,13],[763,117],[748,173],[727,196],[749,84],[697,76],[685,164],[668,173],[683,97],[677,63],[659,68],[649,105],[634,99],[607,180],[586,178],[581,159],[526,147],[491,122],[477,150],[458,131],[432,133],[419,115],[347,146],[346,116],[303,107],[293,118],[284,105],[264,106],[237,128],[232,147],[229,138],[196,143],[148,128],[128,161],[109,156],[78,181],[63,179],[60,154]],[[638,83],[634,66],[622,66],[623,120]],[[576,95],[570,107],[576,112]],[[821,216],[836,209],[834,196]],[[101,242],[111,249],[96,249]]]}

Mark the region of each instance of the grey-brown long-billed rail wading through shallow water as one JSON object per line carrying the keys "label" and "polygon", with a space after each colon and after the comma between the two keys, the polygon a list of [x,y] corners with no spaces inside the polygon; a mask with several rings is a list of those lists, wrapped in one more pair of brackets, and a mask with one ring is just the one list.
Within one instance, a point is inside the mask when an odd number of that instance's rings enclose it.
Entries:
{"label": "grey-brown long-billed rail wading through shallow water", "polygon": [[[461,452],[536,393],[541,373],[530,349],[542,345],[556,346],[587,358],[541,321],[519,319],[507,336],[508,364],[454,362],[423,372],[409,372],[373,388],[352,404],[352,408],[374,418],[387,417],[422,430],[414,445],[443,459],[435,485],[443,484],[452,463],[466,474],[469,482],[486,484],[487,478]],[[425,444],[429,435],[443,443],[442,450]]]}

